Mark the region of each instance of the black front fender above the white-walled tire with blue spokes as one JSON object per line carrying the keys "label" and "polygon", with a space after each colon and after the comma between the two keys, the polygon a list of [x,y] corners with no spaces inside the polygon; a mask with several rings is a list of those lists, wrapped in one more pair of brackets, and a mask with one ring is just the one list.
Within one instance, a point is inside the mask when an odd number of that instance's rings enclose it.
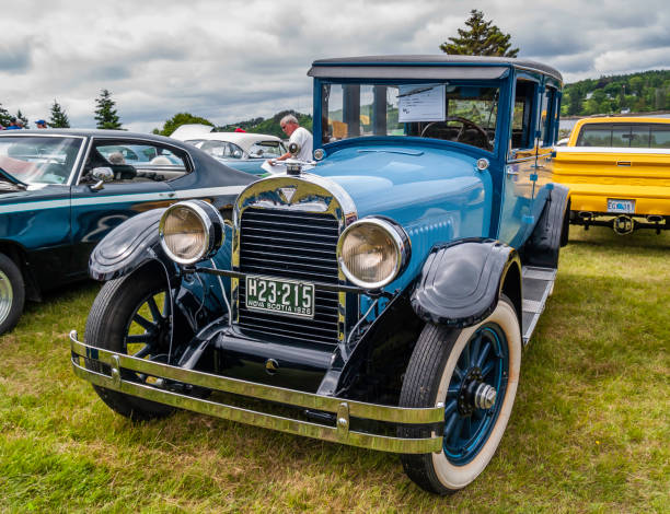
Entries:
{"label": "black front fender above the white-walled tire with blue spokes", "polygon": [[424,264],[412,307],[427,323],[475,325],[496,308],[510,267],[517,267],[520,281],[517,252],[499,241],[467,238],[438,246]]}

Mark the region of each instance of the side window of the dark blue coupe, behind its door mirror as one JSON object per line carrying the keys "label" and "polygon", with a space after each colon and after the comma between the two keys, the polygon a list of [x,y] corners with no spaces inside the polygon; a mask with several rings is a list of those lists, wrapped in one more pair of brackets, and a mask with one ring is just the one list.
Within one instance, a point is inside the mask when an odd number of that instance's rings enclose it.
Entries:
{"label": "side window of the dark blue coupe, behind its door mirror", "polygon": [[163,182],[188,172],[186,153],[172,147],[137,141],[95,141],[84,166],[82,182],[95,167],[108,167],[114,183]]}

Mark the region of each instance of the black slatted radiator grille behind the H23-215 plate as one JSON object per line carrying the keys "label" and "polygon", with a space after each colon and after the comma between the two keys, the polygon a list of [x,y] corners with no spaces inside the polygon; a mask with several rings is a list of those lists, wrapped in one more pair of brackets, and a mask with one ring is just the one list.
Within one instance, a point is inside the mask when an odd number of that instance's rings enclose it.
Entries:
{"label": "black slatted radiator grille behind the H23-215 plate", "polygon": [[[339,225],[332,214],[249,208],[240,224],[240,271],[336,284],[338,236]],[[313,319],[247,309],[244,280],[240,281],[239,299],[239,326],[245,332],[337,343],[337,292],[315,291]]]}

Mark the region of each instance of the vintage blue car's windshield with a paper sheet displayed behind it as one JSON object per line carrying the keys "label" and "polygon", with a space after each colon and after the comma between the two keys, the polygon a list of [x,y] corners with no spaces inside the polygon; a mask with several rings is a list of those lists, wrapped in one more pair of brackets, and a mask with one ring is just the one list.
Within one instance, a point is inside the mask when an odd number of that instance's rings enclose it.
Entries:
{"label": "vintage blue car's windshield with a paper sheet displayed behind it", "polygon": [[322,142],[415,136],[492,151],[498,97],[498,86],[476,83],[326,83],[322,90]]}

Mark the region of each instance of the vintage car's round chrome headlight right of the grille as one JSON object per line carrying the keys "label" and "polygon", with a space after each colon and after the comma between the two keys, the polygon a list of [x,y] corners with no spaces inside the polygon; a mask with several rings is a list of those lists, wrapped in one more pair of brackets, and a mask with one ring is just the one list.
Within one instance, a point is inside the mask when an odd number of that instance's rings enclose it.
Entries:
{"label": "vintage car's round chrome headlight right of the grille", "polygon": [[393,282],[409,261],[409,238],[394,222],[367,218],[351,223],[337,242],[337,262],[345,277],[365,289]]}

